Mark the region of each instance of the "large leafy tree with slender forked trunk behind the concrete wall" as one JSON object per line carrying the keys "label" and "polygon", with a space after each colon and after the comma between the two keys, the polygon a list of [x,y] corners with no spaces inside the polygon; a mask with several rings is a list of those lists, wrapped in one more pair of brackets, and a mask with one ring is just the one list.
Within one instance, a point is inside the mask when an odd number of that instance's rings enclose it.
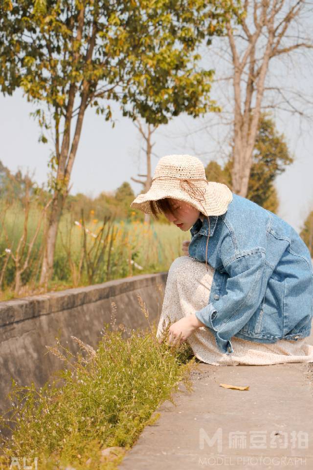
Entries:
{"label": "large leafy tree with slender forked trunk behind the concrete wall", "polygon": [[[197,46],[224,33],[231,0],[1,0],[0,87],[21,87],[42,129],[54,136],[53,194],[40,281],[52,275],[60,216],[86,109],[164,124],[186,112],[217,109],[213,71],[199,67]],[[113,121],[114,125],[114,121]]]}

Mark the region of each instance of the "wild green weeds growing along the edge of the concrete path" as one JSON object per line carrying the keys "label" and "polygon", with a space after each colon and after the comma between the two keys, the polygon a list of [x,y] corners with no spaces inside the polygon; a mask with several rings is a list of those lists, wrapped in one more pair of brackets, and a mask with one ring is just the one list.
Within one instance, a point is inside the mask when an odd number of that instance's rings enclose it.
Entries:
{"label": "wild green weeds growing along the edge of the concrete path", "polygon": [[[146,311],[142,301],[141,307]],[[191,389],[195,361],[186,343],[159,344],[155,325],[142,331],[115,323],[105,324],[96,350],[75,337],[76,354],[59,340],[49,347],[65,367],[39,390],[33,382],[12,381],[12,407],[0,418],[12,438],[2,438],[0,469],[9,468],[12,457],[21,457],[21,465],[23,456],[28,465],[37,458],[46,470],[114,469],[143,427],[157,419],[151,415],[158,404],[172,400],[179,381]],[[101,453],[108,447],[115,447],[113,459]]]}

